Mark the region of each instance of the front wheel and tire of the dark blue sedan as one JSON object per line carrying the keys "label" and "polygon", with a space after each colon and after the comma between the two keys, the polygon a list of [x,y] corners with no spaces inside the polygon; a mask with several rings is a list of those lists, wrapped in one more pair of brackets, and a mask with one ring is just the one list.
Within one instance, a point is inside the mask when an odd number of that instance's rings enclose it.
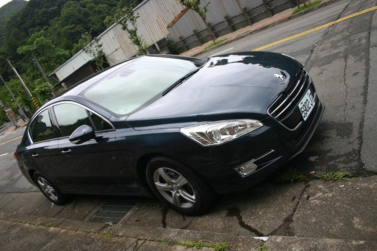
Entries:
{"label": "front wheel and tire of the dark blue sedan", "polygon": [[170,207],[186,215],[204,213],[215,193],[203,179],[182,163],[155,157],[147,163],[147,182],[154,194]]}

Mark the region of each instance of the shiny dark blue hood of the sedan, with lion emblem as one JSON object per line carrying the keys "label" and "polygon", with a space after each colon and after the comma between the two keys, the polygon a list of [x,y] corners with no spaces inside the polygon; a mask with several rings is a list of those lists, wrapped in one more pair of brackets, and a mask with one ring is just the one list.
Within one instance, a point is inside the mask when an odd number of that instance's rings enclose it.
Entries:
{"label": "shiny dark blue hood of the sedan, with lion emblem", "polygon": [[131,127],[234,118],[262,120],[300,64],[278,53],[212,57],[177,88],[127,118]]}

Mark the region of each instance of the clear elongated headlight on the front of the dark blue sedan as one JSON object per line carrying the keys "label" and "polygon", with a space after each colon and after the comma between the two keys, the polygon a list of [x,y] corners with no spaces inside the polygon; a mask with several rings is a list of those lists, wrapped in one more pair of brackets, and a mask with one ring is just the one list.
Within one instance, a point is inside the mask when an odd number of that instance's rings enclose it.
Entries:
{"label": "clear elongated headlight on the front of the dark blue sedan", "polygon": [[262,127],[258,120],[223,120],[182,127],[180,132],[202,146],[219,145]]}

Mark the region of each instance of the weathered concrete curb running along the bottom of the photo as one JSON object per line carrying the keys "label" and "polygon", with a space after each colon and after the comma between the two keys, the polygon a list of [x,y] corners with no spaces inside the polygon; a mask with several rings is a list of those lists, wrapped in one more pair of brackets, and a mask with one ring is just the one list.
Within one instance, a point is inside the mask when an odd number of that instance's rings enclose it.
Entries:
{"label": "weathered concrete curb running along the bottom of the photo", "polygon": [[[54,233],[53,237],[43,241],[45,246],[56,248],[54,241],[64,239],[65,235],[74,235],[77,240],[107,239],[107,242],[118,243],[127,239],[130,247],[127,250],[197,250],[197,248],[186,248],[179,244],[180,241],[193,243],[223,243],[227,241],[230,250],[258,250],[258,245],[265,245],[269,250],[375,250],[376,241],[356,241],[352,239],[328,239],[313,237],[287,237],[270,236],[267,241],[254,239],[246,236],[226,235],[197,230],[182,230],[171,228],[156,228],[145,226],[108,226],[92,222],[81,222],[75,220],[58,220],[47,217],[33,217],[30,215],[17,215],[0,213],[1,221],[11,224],[13,227],[38,229],[38,232]],[[42,227],[42,228],[41,228]],[[62,236],[62,237],[61,237]],[[74,242],[75,240],[70,239]],[[262,244],[264,243],[264,244]],[[80,246],[75,243],[75,246]],[[104,245],[97,244],[98,250],[103,250]],[[143,248],[142,248],[143,247]],[[141,248],[141,249],[139,249]],[[53,248],[54,249],[54,248]],[[60,250],[69,250],[62,246]],[[23,250],[22,248],[20,250]],[[82,248],[82,250],[88,250]],[[90,249],[96,250],[96,249]],[[214,250],[213,248],[202,248],[202,250]]]}

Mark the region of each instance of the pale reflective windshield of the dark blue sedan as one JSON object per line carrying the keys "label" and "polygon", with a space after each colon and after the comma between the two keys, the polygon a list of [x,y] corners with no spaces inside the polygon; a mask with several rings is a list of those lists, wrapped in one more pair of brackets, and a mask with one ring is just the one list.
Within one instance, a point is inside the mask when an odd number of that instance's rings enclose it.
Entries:
{"label": "pale reflective windshield of the dark blue sedan", "polygon": [[149,105],[199,66],[173,57],[140,57],[99,80],[82,95],[114,114],[127,115]]}

